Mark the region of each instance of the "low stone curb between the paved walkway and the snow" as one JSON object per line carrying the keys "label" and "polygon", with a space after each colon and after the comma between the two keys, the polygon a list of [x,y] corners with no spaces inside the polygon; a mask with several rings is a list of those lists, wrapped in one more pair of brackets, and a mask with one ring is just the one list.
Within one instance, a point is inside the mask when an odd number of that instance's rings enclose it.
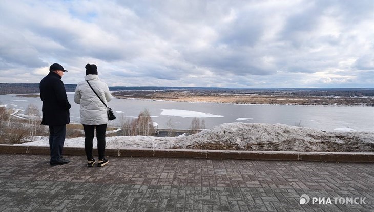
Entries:
{"label": "low stone curb between the paved walkway and the snow", "polygon": [[[49,147],[0,145],[0,153],[49,155]],[[84,148],[64,147],[64,155],[86,155]],[[97,149],[93,149],[97,153]],[[288,160],[325,162],[374,162],[374,153],[231,151],[189,149],[106,149],[112,157],[164,157],[200,159]]]}

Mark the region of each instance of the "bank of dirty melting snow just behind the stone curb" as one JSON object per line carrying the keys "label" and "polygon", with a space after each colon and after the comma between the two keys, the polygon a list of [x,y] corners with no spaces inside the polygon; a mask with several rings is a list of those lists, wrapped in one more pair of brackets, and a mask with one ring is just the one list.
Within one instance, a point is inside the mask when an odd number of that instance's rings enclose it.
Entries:
{"label": "bank of dirty melting snow just behind the stone curb", "polygon": [[[49,146],[48,137],[17,145]],[[226,123],[190,136],[113,136],[107,149],[218,149],[318,152],[374,152],[374,132],[326,132],[284,124]],[[84,147],[84,138],[65,139],[65,147]],[[97,147],[96,138],[94,147]]]}

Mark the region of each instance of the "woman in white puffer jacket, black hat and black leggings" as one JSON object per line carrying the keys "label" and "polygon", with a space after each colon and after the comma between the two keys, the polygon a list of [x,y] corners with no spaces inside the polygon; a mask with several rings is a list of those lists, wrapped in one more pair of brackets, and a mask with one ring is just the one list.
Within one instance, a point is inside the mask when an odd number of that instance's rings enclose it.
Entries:
{"label": "woman in white puffer jacket, black hat and black leggings", "polygon": [[99,154],[97,166],[102,167],[109,162],[109,160],[105,158],[105,132],[108,124],[107,108],[92,91],[88,82],[106,105],[108,105],[107,102],[109,102],[113,96],[109,92],[107,84],[99,80],[96,65],[87,64],[85,81],[81,81],[77,84],[74,102],[80,104],[80,123],[83,124],[85,130],[85,151],[88,160],[87,167],[92,167],[96,162],[92,156],[92,141],[95,128]]}

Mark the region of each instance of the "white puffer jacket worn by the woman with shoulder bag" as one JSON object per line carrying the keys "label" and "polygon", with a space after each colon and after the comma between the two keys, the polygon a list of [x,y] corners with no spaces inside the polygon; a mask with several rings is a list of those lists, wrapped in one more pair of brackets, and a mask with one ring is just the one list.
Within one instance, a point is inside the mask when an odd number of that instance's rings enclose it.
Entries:
{"label": "white puffer jacket worn by the woman with shoulder bag", "polygon": [[[112,100],[113,96],[109,92],[106,83],[99,80],[96,74],[89,74],[85,76],[95,90],[97,95],[109,107],[108,102]],[[77,84],[74,95],[74,102],[80,104],[80,123],[85,125],[101,125],[108,123],[107,108],[92,91],[86,81],[81,81]]]}

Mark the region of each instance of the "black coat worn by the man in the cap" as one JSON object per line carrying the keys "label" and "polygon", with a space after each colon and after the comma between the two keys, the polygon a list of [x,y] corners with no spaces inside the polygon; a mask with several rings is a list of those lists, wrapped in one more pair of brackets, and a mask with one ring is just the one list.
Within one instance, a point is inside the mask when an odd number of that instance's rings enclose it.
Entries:
{"label": "black coat worn by the man in the cap", "polygon": [[71,105],[61,77],[51,71],[40,81],[39,89],[43,101],[41,124],[55,126],[70,123]]}

